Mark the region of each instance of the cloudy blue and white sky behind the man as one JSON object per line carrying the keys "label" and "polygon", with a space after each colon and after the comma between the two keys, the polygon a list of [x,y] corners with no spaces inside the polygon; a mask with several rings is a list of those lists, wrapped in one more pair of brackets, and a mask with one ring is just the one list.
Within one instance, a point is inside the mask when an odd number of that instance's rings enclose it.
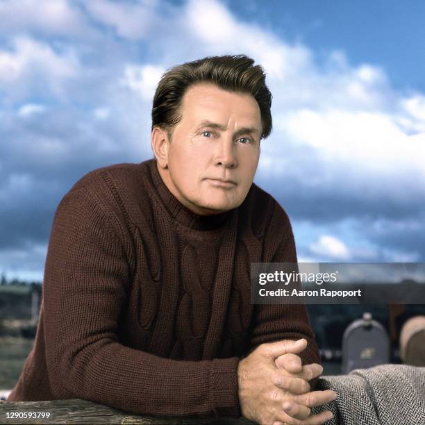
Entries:
{"label": "cloudy blue and white sky behind the man", "polygon": [[255,183],[299,261],[425,262],[425,3],[0,0],[0,273],[42,281],[60,199],[152,157],[153,92],[188,60],[263,65]]}

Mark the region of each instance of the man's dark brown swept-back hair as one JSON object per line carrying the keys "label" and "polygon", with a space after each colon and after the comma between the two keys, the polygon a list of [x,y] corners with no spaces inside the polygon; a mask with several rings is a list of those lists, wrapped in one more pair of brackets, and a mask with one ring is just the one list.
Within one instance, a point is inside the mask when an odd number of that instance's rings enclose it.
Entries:
{"label": "man's dark brown swept-back hair", "polygon": [[272,131],[272,93],[265,83],[263,67],[253,63],[245,55],[209,56],[168,69],[153,97],[152,129],[159,126],[171,136],[172,127],[182,118],[181,103],[188,88],[212,83],[229,92],[251,94],[260,107],[261,138],[267,138]]}

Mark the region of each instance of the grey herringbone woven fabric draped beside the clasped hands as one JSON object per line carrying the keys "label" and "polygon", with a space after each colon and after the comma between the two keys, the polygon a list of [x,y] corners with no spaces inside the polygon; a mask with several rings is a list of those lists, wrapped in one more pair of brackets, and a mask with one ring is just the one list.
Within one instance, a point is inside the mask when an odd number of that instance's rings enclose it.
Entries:
{"label": "grey herringbone woven fabric draped beside the clasped hands", "polygon": [[329,425],[425,425],[425,367],[381,365],[348,375],[322,376],[317,390],[338,399],[312,409],[331,410]]}

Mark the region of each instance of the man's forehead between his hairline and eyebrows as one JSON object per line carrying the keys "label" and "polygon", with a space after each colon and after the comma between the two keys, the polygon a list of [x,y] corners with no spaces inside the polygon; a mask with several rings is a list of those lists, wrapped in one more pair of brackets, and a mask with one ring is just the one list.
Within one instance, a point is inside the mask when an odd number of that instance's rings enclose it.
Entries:
{"label": "man's forehead between his hairline and eyebrows", "polygon": [[260,125],[261,114],[256,99],[251,94],[228,92],[213,84],[190,87],[183,96],[183,119],[211,119],[228,121],[237,119],[239,124]]}

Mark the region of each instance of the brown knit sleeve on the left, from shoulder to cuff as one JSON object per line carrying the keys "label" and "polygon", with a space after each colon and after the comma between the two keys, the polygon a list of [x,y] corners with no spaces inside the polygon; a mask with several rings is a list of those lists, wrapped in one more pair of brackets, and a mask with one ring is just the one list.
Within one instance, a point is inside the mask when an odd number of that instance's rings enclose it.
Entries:
{"label": "brown knit sleeve on the left, from shoulder to cuff", "polygon": [[94,192],[83,186],[64,197],[49,240],[43,297],[54,396],[135,414],[239,417],[238,358],[170,360],[119,342],[130,242]]}

